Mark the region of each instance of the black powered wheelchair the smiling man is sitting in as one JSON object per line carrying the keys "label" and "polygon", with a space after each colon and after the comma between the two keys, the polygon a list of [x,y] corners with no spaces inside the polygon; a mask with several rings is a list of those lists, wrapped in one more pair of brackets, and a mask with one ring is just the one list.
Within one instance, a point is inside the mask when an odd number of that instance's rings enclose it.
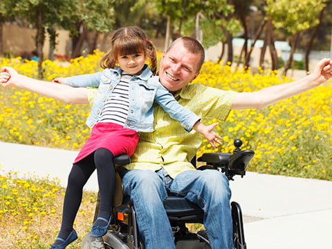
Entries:
{"label": "black powered wheelchair the smiling man is sitting in", "polygon": [[[197,161],[205,162],[206,165],[200,166],[197,170],[214,169],[223,172],[228,179],[233,180],[234,175],[246,175],[246,167],[254,157],[253,150],[241,150],[242,141],[234,140],[235,149],[231,153],[210,152],[205,153]],[[118,155],[114,158],[116,164],[128,164],[128,155]],[[192,160],[196,166],[196,157]],[[120,176],[116,179],[119,182]],[[118,185],[116,188],[118,189]],[[122,191],[120,185],[120,190]],[[109,230],[102,238],[95,238],[86,234],[82,240],[82,249],[143,249],[139,236],[138,225],[136,223],[135,208],[131,205],[129,198],[122,200],[122,192],[116,193],[114,198],[113,221]],[[95,208],[94,220],[98,217],[99,195]],[[230,203],[232,210],[232,226],[234,248],[246,249],[246,241],[243,232],[242,212],[239,203]],[[203,210],[198,205],[187,201],[184,197],[169,196],[164,201],[165,210],[172,226],[174,243],[176,249],[209,249],[211,248],[208,234],[205,230],[190,232],[185,226],[186,223],[203,223]],[[102,246],[93,246],[93,240],[100,239]]]}

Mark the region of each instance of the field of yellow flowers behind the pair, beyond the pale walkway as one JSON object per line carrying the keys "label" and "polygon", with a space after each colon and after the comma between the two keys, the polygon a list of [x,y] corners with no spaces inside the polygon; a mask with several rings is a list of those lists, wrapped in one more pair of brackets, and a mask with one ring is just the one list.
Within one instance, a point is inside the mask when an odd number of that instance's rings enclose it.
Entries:
{"label": "field of yellow flowers behind the pair, beyond the pale walkway", "polygon": [[[70,63],[44,61],[46,80],[100,70],[102,52]],[[37,77],[35,61],[0,59],[19,73]],[[207,61],[195,80],[225,90],[255,91],[291,81],[277,72],[251,73]],[[264,110],[232,111],[216,131],[223,137],[218,150],[233,150],[233,139],[255,150],[250,171],[332,180],[331,81]],[[66,105],[19,89],[0,89],[0,141],[79,150],[90,131],[84,122],[89,106]],[[216,120],[204,121],[212,123]],[[216,151],[204,143],[201,152]]]}

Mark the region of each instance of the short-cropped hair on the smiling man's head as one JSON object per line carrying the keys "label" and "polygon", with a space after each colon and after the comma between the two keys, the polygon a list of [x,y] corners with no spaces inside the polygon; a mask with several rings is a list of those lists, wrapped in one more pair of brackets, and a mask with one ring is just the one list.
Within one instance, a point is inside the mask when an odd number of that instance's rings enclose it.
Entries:
{"label": "short-cropped hair on the smiling man's head", "polygon": [[167,48],[166,52],[168,52],[179,41],[182,41],[184,48],[186,50],[188,50],[188,52],[191,52],[192,54],[200,55],[200,59],[197,63],[197,66],[198,66],[197,72],[199,72],[199,70],[201,70],[201,67],[202,67],[202,65],[204,63],[204,59],[205,59],[205,50],[204,50],[202,44],[192,37],[180,37],[172,42],[172,44],[169,46],[169,48]]}

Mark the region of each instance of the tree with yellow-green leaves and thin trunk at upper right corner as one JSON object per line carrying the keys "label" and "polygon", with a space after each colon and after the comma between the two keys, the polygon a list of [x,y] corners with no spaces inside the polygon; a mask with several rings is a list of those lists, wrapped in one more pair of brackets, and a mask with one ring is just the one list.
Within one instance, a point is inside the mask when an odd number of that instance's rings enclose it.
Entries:
{"label": "tree with yellow-green leaves and thin trunk at upper right corner", "polygon": [[280,28],[289,37],[291,52],[284,66],[284,73],[291,68],[293,54],[303,30],[317,26],[319,15],[326,0],[267,0],[265,10],[275,28]]}

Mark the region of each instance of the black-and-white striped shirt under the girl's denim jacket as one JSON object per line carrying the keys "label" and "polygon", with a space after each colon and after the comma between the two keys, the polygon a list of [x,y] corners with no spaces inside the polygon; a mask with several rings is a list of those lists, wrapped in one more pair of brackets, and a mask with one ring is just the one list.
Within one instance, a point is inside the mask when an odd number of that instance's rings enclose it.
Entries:
{"label": "black-and-white striped shirt under the girl's denim jacket", "polygon": [[124,126],[129,111],[129,81],[131,77],[133,75],[122,72],[120,82],[102,108],[99,122],[118,123],[120,126]]}

